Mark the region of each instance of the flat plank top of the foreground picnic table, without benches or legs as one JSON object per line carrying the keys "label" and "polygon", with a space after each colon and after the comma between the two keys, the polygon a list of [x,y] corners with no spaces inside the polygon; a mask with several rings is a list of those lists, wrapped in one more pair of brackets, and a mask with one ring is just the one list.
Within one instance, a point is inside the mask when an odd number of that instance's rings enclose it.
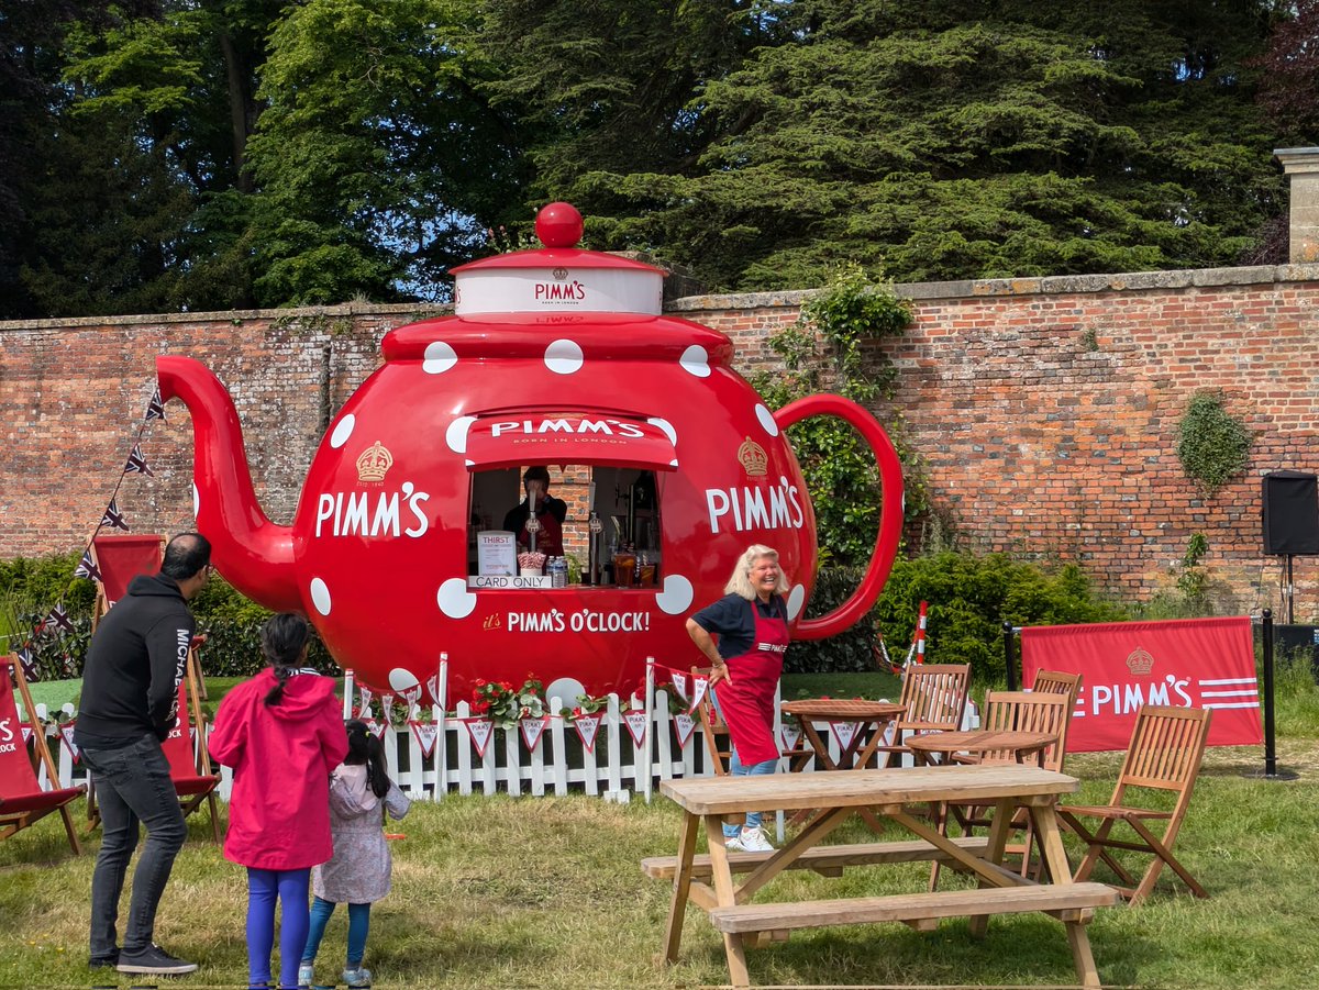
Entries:
{"label": "flat plank top of the foreground picnic table, without benches or legs", "polygon": [[963,801],[1072,794],[1074,776],[1035,766],[939,766],[849,770],[845,774],[770,774],[663,780],[660,792],[692,815],[748,808],[856,808],[874,804]]}

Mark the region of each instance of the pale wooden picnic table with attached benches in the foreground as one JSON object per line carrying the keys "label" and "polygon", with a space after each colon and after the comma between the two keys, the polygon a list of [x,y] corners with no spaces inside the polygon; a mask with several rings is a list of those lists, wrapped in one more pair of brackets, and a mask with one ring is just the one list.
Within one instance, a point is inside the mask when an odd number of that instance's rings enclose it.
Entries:
{"label": "pale wooden picnic table with attached benches in the foreground", "polygon": [[[907,770],[853,770],[840,774],[780,774],[665,780],[661,794],[683,809],[678,854],[642,862],[642,870],[673,881],[665,928],[663,958],[678,958],[682,921],[689,903],[704,910],[723,935],[728,973],[735,986],[749,986],[745,945],[781,941],[795,928],[902,921],[934,928],[940,917],[971,917],[983,935],[989,915],[1042,911],[1062,920],[1080,982],[1097,987],[1086,924],[1093,908],[1115,904],[1119,894],[1103,883],[1074,883],[1058,832],[1054,805],[1076,790],[1075,778],[1031,766],[944,766]],[[972,803],[995,808],[987,837],[950,838],[907,812],[909,804]],[[1028,808],[1043,849],[1043,882],[1002,867],[1008,825],[1018,807]],[[729,853],[723,816],[761,808],[818,809],[815,817],[773,853]],[[867,808],[901,825],[914,841],[823,845],[849,815]],[[708,853],[696,854],[704,824]],[[890,896],[834,898],[805,902],[751,903],[781,871],[811,869],[839,875],[844,867],[874,863],[938,861],[975,874],[975,890],[925,891]],[[747,874],[733,883],[733,874]]]}

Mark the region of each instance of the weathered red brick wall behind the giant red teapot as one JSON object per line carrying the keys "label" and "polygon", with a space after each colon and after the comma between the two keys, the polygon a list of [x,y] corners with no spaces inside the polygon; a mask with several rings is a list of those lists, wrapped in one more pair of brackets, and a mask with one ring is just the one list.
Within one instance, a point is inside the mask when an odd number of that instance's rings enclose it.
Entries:
{"label": "weathered red brick wall behind the giant red teapot", "polygon": [[[1194,533],[1224,610],[1279,609],[1261,552],[1260,476],[1319,471],[1319,266],[901,286],[915,323],[876,343],[901,369],[892,407],[934,504],[964,546],[1080,562],[1126,598],[1171,583]],[[744,372],[803,293],[689,297],[669,310],[728,334]],[[400,306],[0,323],[0,558],[71,550],[99,519],[137,436],[162,352],[230,386],[257,494],[291,519],[328,417],[379,363]],[[430,315],[430,314],[426,314]],[[1217,389],[1254,434],[1246,476],[1203,498],[1182,476],[1187,401]],[[142,436],[153,479],[123,477],[137,531],[190,522],[181,403]],[[1319,618],[1319,560],[1295,563],[1298,621]]]}

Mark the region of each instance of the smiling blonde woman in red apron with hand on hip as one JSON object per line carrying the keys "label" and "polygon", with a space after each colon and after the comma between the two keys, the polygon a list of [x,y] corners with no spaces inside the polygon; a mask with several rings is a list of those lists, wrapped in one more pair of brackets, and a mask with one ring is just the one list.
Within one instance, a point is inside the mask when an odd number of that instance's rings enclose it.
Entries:
{"label": "smiling blonde woman in red apron with hand on hip", "polygon": [[[710,691],[732,737],[733,776],[778,767],[774,695],[787,651],[786,591],[778,552],[757,543],[737,559],[724,597],[687,620],[687,635],[710,660]],[[752,853],[773,849],[760,823],[760,812],[748,812],[741,828],[724,823],[724,842]]]}

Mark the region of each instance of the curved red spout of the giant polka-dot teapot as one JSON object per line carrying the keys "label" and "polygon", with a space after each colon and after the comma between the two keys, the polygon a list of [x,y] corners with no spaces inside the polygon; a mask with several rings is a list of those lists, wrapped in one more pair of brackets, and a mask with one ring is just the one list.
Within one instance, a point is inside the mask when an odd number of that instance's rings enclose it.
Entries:
{"label": "curved red spout of the giant polka-dot teapot", "polygon": [[276,612],[302,610],[293,572],[293,529],[266,518],[252,489],[233,399],[191,357],[156,359],[161,402],[179,398],[193,415],[193,509],[211,543],[211,563],[243,595]]}

